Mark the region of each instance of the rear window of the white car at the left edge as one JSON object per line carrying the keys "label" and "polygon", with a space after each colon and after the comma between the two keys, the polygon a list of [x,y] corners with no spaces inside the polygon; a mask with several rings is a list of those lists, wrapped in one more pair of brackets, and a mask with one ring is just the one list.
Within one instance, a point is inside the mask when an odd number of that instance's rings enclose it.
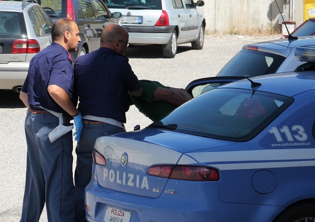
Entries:
{"label": "rear window of the white car at the left edge", "polygon": [[24,30],[22,13],[0,11],[0,34],[21,34]]}

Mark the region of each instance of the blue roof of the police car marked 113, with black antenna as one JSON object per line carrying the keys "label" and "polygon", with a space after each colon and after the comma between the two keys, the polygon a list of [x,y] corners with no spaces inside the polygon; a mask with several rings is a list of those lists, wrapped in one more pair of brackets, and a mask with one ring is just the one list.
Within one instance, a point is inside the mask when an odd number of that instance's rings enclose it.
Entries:
{"label": "blue roof of the police car marked 113, with black antenna", "polygon": [[315,89],[315,71],[284,72],[256,76],[250,79],[261,85],[252,88],[251,82],[248,79],[243,79],[223,85],[220,88],[253,89],[286,96],[294,96]]}

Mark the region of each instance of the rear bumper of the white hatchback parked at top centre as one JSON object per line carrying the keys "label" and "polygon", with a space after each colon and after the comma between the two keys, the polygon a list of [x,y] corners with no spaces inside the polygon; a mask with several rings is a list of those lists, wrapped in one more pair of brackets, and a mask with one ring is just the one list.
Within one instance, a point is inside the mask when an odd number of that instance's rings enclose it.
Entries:
{"label": "rear bumper of the white hatchback parked at top centre", "polygon": [[133,45],[167,44],[175,26],[137,27],[124,26]]}

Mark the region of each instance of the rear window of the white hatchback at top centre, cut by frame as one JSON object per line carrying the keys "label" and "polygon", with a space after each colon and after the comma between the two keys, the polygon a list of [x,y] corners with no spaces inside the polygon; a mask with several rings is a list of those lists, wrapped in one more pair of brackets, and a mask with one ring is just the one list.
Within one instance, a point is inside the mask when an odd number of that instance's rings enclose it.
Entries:
{"label": "rear window of the white hatchback at top centre, cut by frame", "polygon": [[161,0],[106,0],[108,8],[162,9]]}

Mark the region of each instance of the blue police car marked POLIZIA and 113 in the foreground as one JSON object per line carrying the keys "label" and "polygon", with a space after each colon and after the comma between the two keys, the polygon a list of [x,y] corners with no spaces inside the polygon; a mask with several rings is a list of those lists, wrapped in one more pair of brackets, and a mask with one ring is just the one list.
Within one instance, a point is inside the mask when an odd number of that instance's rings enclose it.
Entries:
{"label": "blue police car marked POLIZIA and 113 in the foreground", "polygon": [[87,220],[314,222],[315,48],[296,58],[294,72],[195,82],[166,117],[98,138]]}

